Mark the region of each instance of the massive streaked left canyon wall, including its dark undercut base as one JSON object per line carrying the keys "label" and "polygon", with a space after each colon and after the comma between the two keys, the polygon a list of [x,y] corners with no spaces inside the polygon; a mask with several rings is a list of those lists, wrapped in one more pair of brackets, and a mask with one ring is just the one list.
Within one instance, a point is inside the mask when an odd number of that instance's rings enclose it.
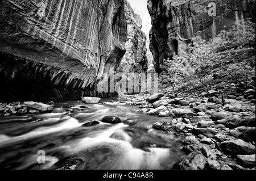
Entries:
{"label": "massive streaked left canyon wall, including its dark undercut base", "polygon": [[126,38],[125,0],[3,0],[0,101],[108,96],[97,78],[117,70]]}

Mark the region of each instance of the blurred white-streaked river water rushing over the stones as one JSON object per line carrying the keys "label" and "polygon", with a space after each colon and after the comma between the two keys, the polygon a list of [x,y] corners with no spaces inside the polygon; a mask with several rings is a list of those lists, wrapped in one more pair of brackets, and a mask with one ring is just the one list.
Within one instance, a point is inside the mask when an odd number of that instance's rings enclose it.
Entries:
{"label": "blurred white-streaked river water rushing over the stones", "polygon": [[[185,155],[183,136],[152,129],[163,118],[106,100],[103,104],[55,104],[55,108],[72,105],[80,109],[71,115],[1,117],[0,169],[172,169]],[[81,105],[88,108],[81,109]],[[102,123],[104,116],[118,116],[123,123]],[[82,126],[93,120],[100,124]],[[39,164],[44,153],[45,163]]]}

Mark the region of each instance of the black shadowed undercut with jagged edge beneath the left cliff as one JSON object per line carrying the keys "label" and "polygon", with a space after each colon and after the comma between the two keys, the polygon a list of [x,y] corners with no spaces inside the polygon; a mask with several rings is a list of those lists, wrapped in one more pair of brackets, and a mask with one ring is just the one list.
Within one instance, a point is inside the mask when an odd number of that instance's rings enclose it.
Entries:
{"label": "black shadowed undercut with jagged edge beneath the left cliff", "polygon": [[0,102],[49,102],[77,100],[82,96],[117,96],[117,93],[99,93],[89,87],[82,89],[85,80],[72,74],[71,71],[0,52]]}

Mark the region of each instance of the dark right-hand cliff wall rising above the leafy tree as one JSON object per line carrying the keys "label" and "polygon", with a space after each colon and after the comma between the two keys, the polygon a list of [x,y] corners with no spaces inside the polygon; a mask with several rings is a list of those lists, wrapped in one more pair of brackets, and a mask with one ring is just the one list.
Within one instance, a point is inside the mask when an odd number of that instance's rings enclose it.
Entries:
{"label": "dark right-hand cliff wall rising above the leafy tree", "polygon": [[195,35],[210,39],[238,20],[255,19],[254,0],[148,0],[150,50],[156,71],[163,59],[187,49]]}

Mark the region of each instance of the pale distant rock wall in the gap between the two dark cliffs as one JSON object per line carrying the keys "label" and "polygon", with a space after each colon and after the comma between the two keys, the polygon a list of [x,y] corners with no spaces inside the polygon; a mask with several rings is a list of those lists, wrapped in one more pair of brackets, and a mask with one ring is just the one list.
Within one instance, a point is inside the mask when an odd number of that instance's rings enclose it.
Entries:
{"label": "pale distant rock wall in the gap between the two dark cliffs", "polygon": [[133,11],[127,1],[125,3],[125,15],[127,22],[126,53],[122,58],[118,71],[125,74],[145,72],[147,70],[147,49],[146,35],[141,30],[142,19]]}

